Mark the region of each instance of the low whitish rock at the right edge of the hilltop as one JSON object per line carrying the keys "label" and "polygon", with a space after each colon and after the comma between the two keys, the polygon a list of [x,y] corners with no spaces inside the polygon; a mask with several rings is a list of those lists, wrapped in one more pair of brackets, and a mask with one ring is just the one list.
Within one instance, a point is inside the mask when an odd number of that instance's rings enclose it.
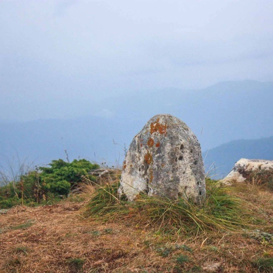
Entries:
{"label": "low whitish rock at the right edge of the hilltop", "polygon": [[262,160],[262,159],[246,159],[241,158],[237,161],[231,170],[231,172],[224,177],[221,181],[229,182],[236,181],[242,183],[246,180],[245,174],[256,171],[273,171],[273,161],[272,160]]}

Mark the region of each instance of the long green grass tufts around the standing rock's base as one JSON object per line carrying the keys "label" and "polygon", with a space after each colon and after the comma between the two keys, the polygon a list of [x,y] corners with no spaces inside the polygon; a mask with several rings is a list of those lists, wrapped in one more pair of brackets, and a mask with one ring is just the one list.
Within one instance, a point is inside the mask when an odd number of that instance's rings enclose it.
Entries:
{"label": "long green grass tufts around the standing rock's base", "polygon": [[148,197],[140,195],[134,202],[119,200],[119,183],[100,187],[82,210],[84,218],[109,221],[112,219],[138,221],[183,233],[219,230],[238,230],[250,222],[250,208],[238,191],[243,187],[223,186],[207,180],[207,197],[202,206],[184,199]]}

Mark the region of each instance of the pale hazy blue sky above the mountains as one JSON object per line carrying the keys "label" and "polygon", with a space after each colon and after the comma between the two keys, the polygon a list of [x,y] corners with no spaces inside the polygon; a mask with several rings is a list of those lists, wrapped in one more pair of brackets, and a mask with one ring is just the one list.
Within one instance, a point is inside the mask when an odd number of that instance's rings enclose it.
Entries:
{"label": "pale hazy blue sky above the mountains", "polygon": [[86,114],[136,90],[272,81],[272,14],[272,0],[1,0],[0,120]]}

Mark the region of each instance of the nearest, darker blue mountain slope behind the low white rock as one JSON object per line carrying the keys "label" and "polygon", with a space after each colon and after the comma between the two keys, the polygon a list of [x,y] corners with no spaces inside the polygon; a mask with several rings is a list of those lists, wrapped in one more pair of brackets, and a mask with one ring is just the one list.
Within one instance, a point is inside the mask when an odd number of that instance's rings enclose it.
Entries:
{"label": "nearest, darker blue mountain slope behind the low white rock", "polygon": [[226,176],[240,158],[273,160],[273,136],[231,141],[203,153],[206,172],[214,179]]}

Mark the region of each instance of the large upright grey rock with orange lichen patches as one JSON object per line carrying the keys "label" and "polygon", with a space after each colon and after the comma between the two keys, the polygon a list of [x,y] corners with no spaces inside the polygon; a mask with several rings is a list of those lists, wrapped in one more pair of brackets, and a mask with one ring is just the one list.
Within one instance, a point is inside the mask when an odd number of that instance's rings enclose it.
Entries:
{"label": "large upright grey rock with orange lichen patches", "polygon": [[171,115],[151,118],[134,137],[121,174],[119,196],[140,193],[200,203],[206,195],[200,144],[191,129]]}

